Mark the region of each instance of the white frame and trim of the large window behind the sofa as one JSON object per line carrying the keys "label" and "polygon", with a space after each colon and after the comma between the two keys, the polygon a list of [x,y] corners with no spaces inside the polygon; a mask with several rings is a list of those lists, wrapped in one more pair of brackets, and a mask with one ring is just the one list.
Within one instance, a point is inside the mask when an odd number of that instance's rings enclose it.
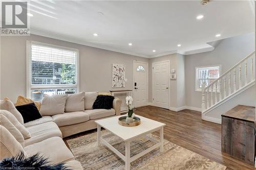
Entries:
{"label": "white frame and trim of the large window behind the sofa", "polygon": [[[42,46],[47,46],[47,47],[52,47],[52,48],[59,48],[61,50],[69,50],[76,52],[76,84],[74,85],[65,85],[65,84],[54,84],[54,85],[32,85],[31,84],[31,77],[32,77],[32,72],[31,72],[31,45],[42,45]],[[53,44],[48,44],[48,43],[42,43],[42,42],[36,42],[36,41],[27,41],[27,98],[32,98],[32,90],[43,90],[43,89],[63,89],[63,88],[76,88],[77,92],[79,92],[79,50],[76,48],[69,48],[65,46],[58,46],[58,45],[53,45]]]}

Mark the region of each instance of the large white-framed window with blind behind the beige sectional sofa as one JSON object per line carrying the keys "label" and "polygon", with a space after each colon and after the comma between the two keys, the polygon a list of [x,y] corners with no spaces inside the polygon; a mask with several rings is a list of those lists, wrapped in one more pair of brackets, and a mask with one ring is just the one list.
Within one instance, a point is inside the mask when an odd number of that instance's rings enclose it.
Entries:
{"label": "large white-framed window with blind behind the beige sectional sofa", "polygon": [[78,91],[78,50],[28,41],[27,95],[41,101],[43,94]]}

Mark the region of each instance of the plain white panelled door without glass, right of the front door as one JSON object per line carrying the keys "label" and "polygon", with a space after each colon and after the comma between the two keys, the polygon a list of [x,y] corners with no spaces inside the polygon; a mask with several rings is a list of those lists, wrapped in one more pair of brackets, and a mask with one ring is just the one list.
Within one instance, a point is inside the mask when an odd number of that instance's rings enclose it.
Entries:
{"label": "plain white panelled door without glass, right of the front door", "polygon": [[153,63],[153,104],[169,109],[169,61]]}

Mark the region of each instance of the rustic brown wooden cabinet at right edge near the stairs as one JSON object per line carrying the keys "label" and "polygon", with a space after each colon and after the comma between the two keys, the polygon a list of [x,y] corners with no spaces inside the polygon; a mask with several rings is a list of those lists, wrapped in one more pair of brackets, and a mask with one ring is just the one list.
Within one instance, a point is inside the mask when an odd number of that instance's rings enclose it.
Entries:
{"label": "rustic brown wooden cabinet at right edge near the stairs", "polygon": [[254,165],[255,107],[238,105],[222,114],[221,151]]}

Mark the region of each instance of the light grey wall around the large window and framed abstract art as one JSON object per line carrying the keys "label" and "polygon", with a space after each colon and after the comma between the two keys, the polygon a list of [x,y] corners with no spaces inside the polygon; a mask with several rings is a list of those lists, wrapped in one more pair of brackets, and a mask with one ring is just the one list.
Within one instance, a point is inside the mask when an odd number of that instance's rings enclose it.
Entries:
{"label": "light grey wall around the large window and framed abstract art", "polygon": [[[128,82],[123,89],[133,89],[133,61],[147,58],[116,53],[86,45],[30,35],[1,37],[0,98],[13,102],[18,95],[26,96],[26,41],[38,41],[77,48],[80,54],[80,91],[109,91],[112,86],[112,63],[125,65]],[[116,89],[116,88],[115,88]]]}

